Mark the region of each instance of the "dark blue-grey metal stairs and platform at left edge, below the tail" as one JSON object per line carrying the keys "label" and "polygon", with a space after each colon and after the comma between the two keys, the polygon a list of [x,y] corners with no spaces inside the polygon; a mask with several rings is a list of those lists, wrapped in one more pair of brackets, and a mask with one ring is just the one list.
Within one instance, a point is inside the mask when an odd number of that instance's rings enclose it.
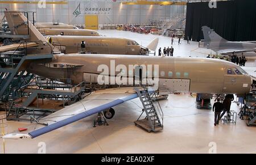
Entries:
{"label": "dark blue-grey metal stairs and platform at left edge, below the tail", "polygon": [[[28,61],[52,59],[53,54],[29,54],[24,44],[20,43],[15,51],[0,53],[0,100],[16,99],[20,87],[28,84],[34,75],[27,73]],[[20,48],[22,47],[22,48]],[[35,48],[36,49],[36,48]]]}

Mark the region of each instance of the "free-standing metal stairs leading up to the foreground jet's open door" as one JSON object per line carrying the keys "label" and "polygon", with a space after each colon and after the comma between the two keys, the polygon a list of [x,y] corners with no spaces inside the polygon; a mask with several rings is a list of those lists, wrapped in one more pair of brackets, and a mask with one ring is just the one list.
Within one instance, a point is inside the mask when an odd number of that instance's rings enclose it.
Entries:
{"label": "free-standing metal stairs leading up to the foreground jet's open door", "polygon": [[142,86],[141,89],[135,88],[139,99],[143,105],[143,112],[146,113],[146,118],[139,120],[141,116],[139,116],[137,121],[134,121],[135,125],[141,126],[143,129],[146,129],[148,132],[158,132],[163,129],[163,111],[160,107],[159,102],[156,99],[152,99],[156,97],[155,91],[148,91],[148,89]]}

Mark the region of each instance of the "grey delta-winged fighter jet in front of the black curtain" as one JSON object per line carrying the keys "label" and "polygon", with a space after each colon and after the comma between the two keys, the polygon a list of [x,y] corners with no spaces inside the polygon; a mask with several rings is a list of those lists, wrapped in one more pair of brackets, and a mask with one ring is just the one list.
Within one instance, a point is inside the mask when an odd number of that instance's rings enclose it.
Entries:
{"label": "grey delta-winged fighter jet in front of the black curtain", "polygon": [[[217,53],[233,53],[233,52],[255,52],[256,41],[232,42],[223,39],[220,35],[207,26],[202,27],[204,34],[204,47],[212,49]],[[255,54],[256,56],[256,54]]]}

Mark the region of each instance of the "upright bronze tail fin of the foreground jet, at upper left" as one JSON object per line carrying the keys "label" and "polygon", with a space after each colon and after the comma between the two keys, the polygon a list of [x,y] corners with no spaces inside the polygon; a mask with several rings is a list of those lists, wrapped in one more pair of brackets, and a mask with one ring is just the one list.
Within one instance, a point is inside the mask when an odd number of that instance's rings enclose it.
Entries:
{"label": "upright bronze tail fin of the foreground jet, at upper left", "polygon": [[[34,25],[19,11],[5,11],[5,18],[9,24],[9,28],[14,33],[14,35],[28,35],[25,41],[48,43],[46,38],[34,27]],[[58,50],[52,46],[51,44],[47,44],[51,46],[53,52],[57,52]],[[48,47],[49,47],[48,46]]]}

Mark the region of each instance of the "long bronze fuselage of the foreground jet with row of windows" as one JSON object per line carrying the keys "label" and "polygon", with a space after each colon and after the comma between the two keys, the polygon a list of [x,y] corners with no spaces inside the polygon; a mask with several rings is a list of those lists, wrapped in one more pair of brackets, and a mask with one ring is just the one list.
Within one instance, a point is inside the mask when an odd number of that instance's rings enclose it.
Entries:
{"label": "long bronze fuselage of the foreground jet with row of windows", "polygon": [[[67,62],[81,67],[60,68],[57,65]],[[135,65],[132,70],[129,69],[130,65]],[[107,66],[109,70],[102,70],[101,66]],[[31,64],[28,71],[42,77],[72,79],[73,84],[83,81],[98,83],[98,77],[106,71],[104,79],[108,79],[111,83],[125,70],[123,68],[128,69],[126,74],[122,75],[122,80],[127,78],[128,85],[134,85],[138,77],[142,77],[141,79],[151,77],[151,81],[155,81],[158,75],[159,81],[155,83],[159,83],[160,92],[244,95],[250,91],[251,86],[250,76],[241,73],[243,71],[239,66],[227,61],[206,58],[69,54],[56,56],[52,65]],[[151,75],[148,73],[150,68]],[[115,79],[116,84],[118,81],[121,79]]]}

